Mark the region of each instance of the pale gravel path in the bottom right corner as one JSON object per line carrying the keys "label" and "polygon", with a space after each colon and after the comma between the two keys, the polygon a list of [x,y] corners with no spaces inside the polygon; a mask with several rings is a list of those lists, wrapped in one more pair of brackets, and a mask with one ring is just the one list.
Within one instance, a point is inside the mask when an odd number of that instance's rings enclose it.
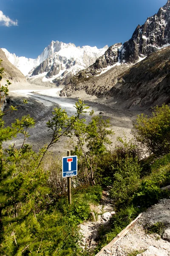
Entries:
{"label": "pale gravel path in the bottom right corner", "polygon": [[147,209],[142,217],[133,224],[130,231],[112,247],[107,248],[100,256],[127,256],[134,251],[145,251],[140,256],[170,256],[170,242],[161,239],[161,236],[145,232],[146,225],[162,222],[165,229],[170,228],[170,199],[159,201]]}

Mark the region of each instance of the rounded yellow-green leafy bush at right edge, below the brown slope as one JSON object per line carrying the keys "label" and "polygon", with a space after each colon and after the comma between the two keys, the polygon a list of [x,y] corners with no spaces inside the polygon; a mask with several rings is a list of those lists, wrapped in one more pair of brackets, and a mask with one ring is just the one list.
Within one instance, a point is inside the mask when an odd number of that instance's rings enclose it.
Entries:
{"label": "rounded yellow-green leafy bush at right edge, below the brown slope", "polygon": [[144,147],[160,157],[170,152],[170,107],[154,108],[151,117],[141,114],[133,124],[134,134]]}

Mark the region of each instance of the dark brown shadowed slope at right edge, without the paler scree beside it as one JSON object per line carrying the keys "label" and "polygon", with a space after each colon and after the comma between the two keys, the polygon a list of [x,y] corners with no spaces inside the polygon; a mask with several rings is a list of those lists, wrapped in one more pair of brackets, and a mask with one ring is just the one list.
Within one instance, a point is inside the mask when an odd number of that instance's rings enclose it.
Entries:
{"label": "dark brown shadowed slope at right edge, without the paler scree beside it", "polygon": [[170,47],[148,55],[119,76],[107,95],[123,99],[127,108],[170,103]]}

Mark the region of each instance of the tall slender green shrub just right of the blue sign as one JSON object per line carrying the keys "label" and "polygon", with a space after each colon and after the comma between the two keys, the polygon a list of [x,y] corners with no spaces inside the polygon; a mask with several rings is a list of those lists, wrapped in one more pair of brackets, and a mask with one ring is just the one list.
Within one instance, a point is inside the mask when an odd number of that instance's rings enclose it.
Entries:
{"label": "tall slender green shrub just right of the blue sign", "polygon": [[[92,116],[94,111],[91,111]],[[111,144],[109,136],[114,132],[109,119],[103,119],[102,116],[92,116],[91,122],[86,123],[85,119],[77,119],[72,131],[74,134],[74,151],[79,158],[80,173],[78,178],[81,183],[92,183],[99,180],[99,172],[96,172],[100,159],[106,153],[106,145]],[[99,169],[98,169],[99,171]],[[95,181],[96,180],[96,181]]]}

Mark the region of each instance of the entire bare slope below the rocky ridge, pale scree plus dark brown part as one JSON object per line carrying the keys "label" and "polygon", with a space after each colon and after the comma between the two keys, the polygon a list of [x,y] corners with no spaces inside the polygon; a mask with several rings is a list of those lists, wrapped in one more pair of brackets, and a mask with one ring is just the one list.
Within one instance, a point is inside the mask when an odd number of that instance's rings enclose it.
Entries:
{"label": "entire bare slope below the rocky ridge, pale scree plus dark brown part", "polygon": [[149,108],[170,103],[170,47],[160,49],[135,65],[120,65],[106,73],[72,79],[60,96],[71,96],[85,90],[89,95],[103,98],[106,104],[126,108]]}

